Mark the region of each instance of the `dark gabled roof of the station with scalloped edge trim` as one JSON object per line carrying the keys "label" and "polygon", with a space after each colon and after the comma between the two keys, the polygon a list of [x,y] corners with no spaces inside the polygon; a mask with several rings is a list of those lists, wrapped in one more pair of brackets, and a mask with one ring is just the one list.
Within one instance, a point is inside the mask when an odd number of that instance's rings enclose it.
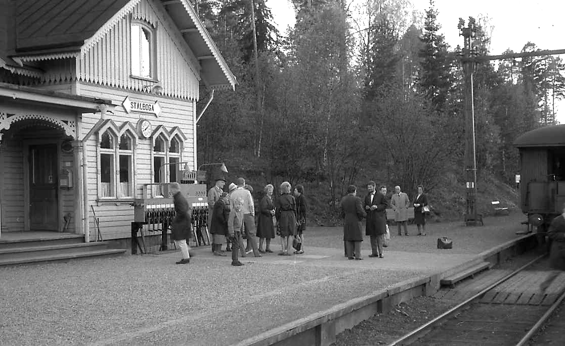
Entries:
{"label": "dark gabled roof of the station with scalloped edge trim", "polygon": [[[164,6],[201,64],[206,86],[234,89],[235,76],[188,0],[146,0]],[[72,56],[92,43],[116,16],[127,14],[141,0],[19,0],[16,1],[16,56],[38,60]],[[41,54],[41,55],[39,55]],[[0,56],[2,56],[0,54]],[[5,56],[7,59],[7,56]],[[7,60],[5,64],[9,64]]]}

